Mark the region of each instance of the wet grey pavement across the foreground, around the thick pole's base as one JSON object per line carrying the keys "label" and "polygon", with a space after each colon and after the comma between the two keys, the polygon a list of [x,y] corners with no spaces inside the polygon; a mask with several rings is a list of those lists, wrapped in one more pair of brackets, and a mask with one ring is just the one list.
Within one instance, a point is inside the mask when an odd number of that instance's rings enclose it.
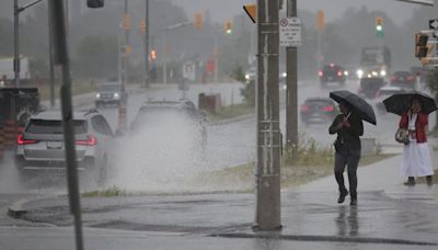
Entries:
{"label": "wet grey pavement across the foreground, around the thick pole's base", "polygon": [[[404,186],[400,161],[399,155],[359,168],[357,206],[348,198],[336,203],[333,177],[284,190],[283,228],[275,231],[252,228],[252,193],[82,198],[85,246],[104,249],[94,237],[105,232],[129,242],[117,245],[125,249],[139,249],[130,240],[154,249],[437,249],[438,186]],[[66,196],[28,201],[21,209],[21,219],[45,230],[71,229]]]}

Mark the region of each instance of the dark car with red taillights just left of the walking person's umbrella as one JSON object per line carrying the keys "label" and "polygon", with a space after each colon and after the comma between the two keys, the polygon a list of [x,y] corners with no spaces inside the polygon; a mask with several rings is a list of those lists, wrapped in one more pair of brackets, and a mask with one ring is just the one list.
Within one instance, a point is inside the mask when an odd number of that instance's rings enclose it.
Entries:
{"label": "dark car with red taillights just left of the walking person's umbrella", "polygon": [[336,103],[330,98],[309,98],[300,107],[304,124],[331,123],[337,113]]}

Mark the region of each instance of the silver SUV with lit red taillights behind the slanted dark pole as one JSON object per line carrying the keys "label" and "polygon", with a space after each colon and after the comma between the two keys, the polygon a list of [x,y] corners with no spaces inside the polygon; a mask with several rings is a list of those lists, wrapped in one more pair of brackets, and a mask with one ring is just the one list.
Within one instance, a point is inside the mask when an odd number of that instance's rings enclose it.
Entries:
{"label": "silver SUV with lit red taillights behind the slanted dark pole", "polygon": [[[74,112],[78,170],[87,180],[102,184],[115,136],[105,117],[95,110]],[[66,172],[65,145],[60,111],[43,111],[28,120],[18,136],[15,166],[24,177],[35,171]]]}

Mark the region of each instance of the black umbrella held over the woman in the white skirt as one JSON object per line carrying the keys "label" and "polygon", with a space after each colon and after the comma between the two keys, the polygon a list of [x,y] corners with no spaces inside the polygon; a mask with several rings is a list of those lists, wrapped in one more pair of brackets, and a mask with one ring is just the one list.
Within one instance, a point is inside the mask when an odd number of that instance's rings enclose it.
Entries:
{"label": "black umbrella held over the woman in the white skirt", "polygon": [[418,99],[419,104],[422,105],[422,111],[424,113],[430,114],[431,112],[438,110],[437,103],[433,98],[418,91],[408,91],[404,93],[393,94],[383,100],[383,104],[387,107],[388,112],[402,115],[403,112],[407,111],[411,107],[411,102],[414,98]]}

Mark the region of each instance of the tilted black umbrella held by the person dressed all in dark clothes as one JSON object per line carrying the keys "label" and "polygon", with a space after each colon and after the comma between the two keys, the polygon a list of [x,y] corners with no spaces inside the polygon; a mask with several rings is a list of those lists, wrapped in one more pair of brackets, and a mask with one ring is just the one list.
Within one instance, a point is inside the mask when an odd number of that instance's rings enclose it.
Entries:
{"label": "tilted black umbrella held by the person dressed all in dark clothes", "polygon": [[330,98],[338,103],[348,103],[361,120],[376,125],[374,110],[372,110],[372,106],[357,94],[354,94],[347,90],[339,90],[330,92]]}

